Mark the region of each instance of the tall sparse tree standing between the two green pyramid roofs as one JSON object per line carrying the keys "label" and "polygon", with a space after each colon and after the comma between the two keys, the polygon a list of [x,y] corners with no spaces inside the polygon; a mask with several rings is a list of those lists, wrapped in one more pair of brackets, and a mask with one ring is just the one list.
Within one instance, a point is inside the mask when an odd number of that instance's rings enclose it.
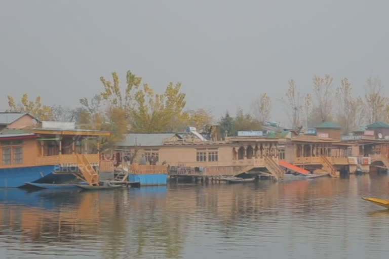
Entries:
{"label": "tall sparse tree standing between the two green pyramid roofs", "polygon": [[343,134],[351,133],[363,124],[364,105],[361,97],[353,97],[348,78],[341,80],[341,85],[336,90],[336,100],[337,121],[342,126]]}

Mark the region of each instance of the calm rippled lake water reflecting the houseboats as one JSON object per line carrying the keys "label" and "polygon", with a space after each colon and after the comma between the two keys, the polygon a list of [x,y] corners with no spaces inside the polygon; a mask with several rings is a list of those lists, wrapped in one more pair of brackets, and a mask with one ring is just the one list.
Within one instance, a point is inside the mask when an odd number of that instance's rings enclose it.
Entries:
{"label": "calm rippled lake water reflecting the houseboats", "polygon": [[387,258],[388,182],[0,190],[0,258]]}

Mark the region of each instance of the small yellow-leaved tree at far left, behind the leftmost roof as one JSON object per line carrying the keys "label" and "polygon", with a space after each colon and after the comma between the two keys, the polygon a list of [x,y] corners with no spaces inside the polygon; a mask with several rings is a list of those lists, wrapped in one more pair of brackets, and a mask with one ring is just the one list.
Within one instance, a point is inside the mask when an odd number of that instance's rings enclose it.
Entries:
{"label": "small yellow-leaved tree at far left, behind the leftmost roof", "polygon": [[8,96],[8,106],[9,109],[6,110],[7,112],[28,112],[40,120],[53,119],[52,107],[48,105],[42,105],[42,98],[40,96],[37,96],[35,101],[30,101],[28,99],[28,95],[24,94],[19,104],[15,103],[15,100],[12,96]]}

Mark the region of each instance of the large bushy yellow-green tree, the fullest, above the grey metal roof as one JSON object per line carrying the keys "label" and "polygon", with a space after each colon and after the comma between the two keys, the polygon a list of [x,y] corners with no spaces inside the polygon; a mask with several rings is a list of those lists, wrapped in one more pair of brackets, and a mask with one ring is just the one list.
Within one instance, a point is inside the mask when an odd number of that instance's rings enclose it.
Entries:
{"label": "large bushy yellow-green tree, the fullest, above the grey metal roof", "polygon": [[127,72],[127,87],[120,86],[119,76],[112,73],[112,82],[100,77],[104,86],[102,99],[108,106],[121,107],[128,113],[131,131],[137,133],[171,132],[177,130],[187,119],[183,109],[185,94],[181,93],[181,83],[169,83],[163,94],[155,94],[142,78]]}

